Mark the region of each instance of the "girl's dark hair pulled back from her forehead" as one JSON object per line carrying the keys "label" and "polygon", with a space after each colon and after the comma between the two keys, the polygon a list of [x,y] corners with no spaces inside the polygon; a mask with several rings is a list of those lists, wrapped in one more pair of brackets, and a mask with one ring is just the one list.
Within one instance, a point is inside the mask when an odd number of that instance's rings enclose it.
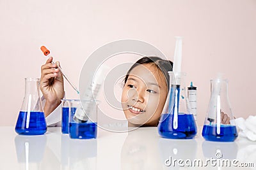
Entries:
{"label": "girl's dark hair pulled back from her forehead", "polygon": [[170,76],[168,71],[172,71],[173,62],[170,60],[161,59],[160,57],[142,57],[141,59],[137,60],[127,72],[124,79],[124,84],[126,83],[132,69],[134,69],[136,66],[139,66],[140,64],[154,64],[154,66],[156,66],[157,69],[159,69],[164,74],[166,85],[169,90]]}

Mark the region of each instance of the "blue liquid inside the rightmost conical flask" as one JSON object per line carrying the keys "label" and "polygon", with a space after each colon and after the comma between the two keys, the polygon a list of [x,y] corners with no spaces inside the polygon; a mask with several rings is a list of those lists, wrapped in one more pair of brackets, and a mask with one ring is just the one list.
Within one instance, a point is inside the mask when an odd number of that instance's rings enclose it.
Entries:
{"label": "blue liquid inside the rightmost conical flask", "polygon": [[204,125],[202,136],[207,141],[234,141],[238,134],[234,125],[220,125],[220,134],[216,125]]}

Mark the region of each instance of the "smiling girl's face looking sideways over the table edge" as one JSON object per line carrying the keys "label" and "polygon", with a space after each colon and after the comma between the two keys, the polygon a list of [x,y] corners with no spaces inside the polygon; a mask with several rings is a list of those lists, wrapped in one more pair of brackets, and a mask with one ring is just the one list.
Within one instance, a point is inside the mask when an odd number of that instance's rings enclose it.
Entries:
{"label": "smiling girl's face looking sideways over the table edge", "polygon": [[153,64],[130,72],[122,92],[122,108],[129,126],[156,126],[167,96],[163,73]]}

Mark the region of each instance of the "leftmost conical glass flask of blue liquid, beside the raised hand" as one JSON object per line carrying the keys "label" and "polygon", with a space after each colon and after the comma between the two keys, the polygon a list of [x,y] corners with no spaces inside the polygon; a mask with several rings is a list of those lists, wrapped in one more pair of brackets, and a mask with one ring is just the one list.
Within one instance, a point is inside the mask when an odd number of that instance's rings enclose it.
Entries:
{"label": "leftmost conical glass flask of blue liquid, beside the raised hand", "polygon": [[42,101],[39,96],[39,78],[25,78],[25,96],[15,127],[18,134],[37,135],[47,130]]}

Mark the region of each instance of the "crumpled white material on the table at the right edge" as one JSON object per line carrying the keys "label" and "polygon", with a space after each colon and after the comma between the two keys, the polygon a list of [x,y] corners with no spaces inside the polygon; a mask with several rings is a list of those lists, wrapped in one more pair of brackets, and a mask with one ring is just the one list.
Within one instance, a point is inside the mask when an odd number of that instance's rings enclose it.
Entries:
{"label": "crumpled white material on the table at the right edge", "polygon": [[256,116],[249,116],[235,119],[236,126],[239,128],[239,136],[248,138],[251,141],[256,141]]}

